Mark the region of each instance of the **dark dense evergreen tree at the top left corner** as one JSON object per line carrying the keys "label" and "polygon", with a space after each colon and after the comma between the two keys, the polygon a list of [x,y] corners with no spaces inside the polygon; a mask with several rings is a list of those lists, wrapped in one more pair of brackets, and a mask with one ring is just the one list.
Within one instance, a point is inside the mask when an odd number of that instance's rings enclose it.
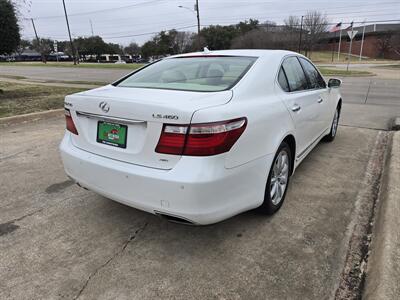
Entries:
{"label": "dark dense evergreen tree at the top left corner", "polygon": [[10,0],[0,0],[0,54],[16,51],[20,39],[14,4]]}

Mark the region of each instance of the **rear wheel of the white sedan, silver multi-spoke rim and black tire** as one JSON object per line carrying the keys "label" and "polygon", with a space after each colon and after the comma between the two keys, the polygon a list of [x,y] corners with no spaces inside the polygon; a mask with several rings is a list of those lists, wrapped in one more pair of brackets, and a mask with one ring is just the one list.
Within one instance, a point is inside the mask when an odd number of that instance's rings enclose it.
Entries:
{"label": "rear wheel of the white sedan, silver multi-spoke rim and black tire", "polygon": [[[272,215],[281,208],[289,186],[290,174],[292,170],[291,158],[292,153],[289,145],[285,142],[282,142],[275,154],[271,169],[268,174],[264,202],[258,208],[261,213]],[[281,166],[279,166],[280,159]],[[281,175],[276,176],[275,174],[277,171]],[[286,182],[285,184],[283,184],[284,181]]]}

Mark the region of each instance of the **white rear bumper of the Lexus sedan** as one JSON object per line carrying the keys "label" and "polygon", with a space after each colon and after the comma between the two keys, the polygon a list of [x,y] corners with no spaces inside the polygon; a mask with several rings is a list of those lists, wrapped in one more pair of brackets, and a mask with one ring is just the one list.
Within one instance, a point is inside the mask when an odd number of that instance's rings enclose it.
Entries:
{"label": "white rear bumper of the Lexus sedan", "polygon": [[66,132],[60,152],[66,173],[81,186],[150,213],[215,223],[258,207],[273,157],[226,169],[224,155],[182,157],[159,170],[95,155],[75,147]]}

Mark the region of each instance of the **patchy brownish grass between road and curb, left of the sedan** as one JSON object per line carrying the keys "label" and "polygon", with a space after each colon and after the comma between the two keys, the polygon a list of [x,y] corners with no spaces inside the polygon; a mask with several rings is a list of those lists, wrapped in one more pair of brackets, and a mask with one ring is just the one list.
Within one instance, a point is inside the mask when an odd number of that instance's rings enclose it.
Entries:
{"label": "patchy brownish grass between road and curb, left of the sedan", "polygon": [[66,95],[82,90],[0,82],[0,118],[62,108]]}

